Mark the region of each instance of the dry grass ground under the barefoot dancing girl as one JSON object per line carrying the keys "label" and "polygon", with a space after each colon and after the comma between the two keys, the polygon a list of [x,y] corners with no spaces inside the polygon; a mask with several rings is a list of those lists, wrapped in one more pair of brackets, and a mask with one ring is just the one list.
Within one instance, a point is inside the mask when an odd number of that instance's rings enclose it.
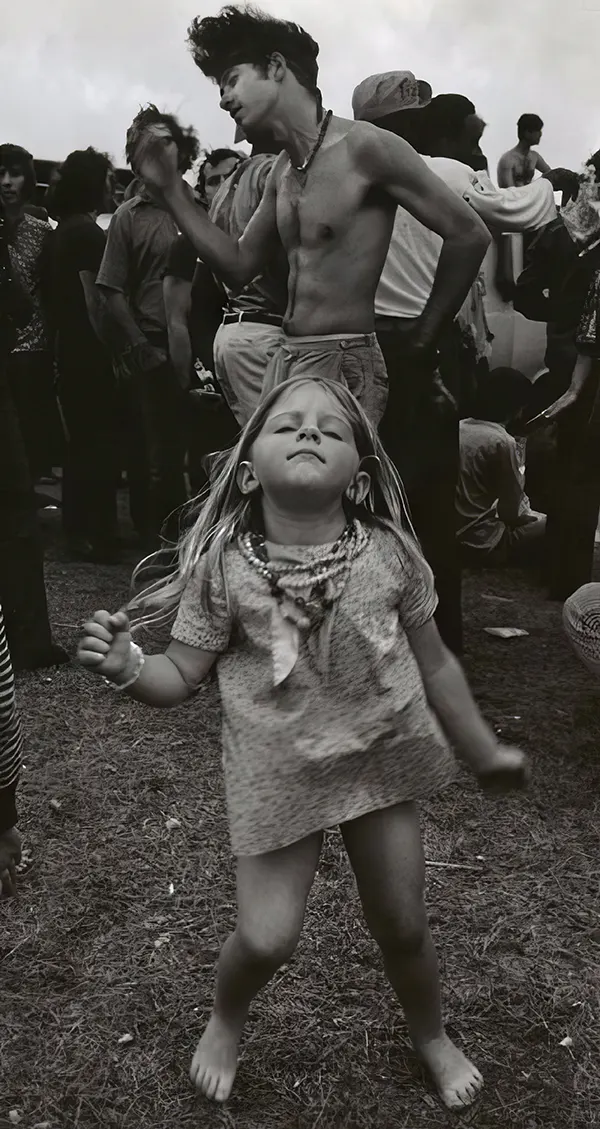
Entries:
{"label": "dry grass ground under the barefoot dancing girl", "polygon": [[[54,552],[47,584],[54,621],[77,624],[122,601],[128,570]],[[466,613],[479,701],[536,768],[527,796],[490,800],[464,780],[424,812],[428,859],[453,864],[428,868],[450,1029],[487,1083],[462,1123],[589,1129],[600,1123],[600,688],[568,651],[559,607],[522,575],[470,576]],[[530,634],[482,630],[503,624]],[[75,645],[72,627],[56,633]],[[297,956],[253,1007],[232,1101],[198,1099],[190,1056],[234,921],[215,686],[165,714],[75,667],[23,676],[18,693],[33,864],[0,908],[1,1127],[10,1111],[23,1129],[455,1123],[409,1050],[337,834]]]}

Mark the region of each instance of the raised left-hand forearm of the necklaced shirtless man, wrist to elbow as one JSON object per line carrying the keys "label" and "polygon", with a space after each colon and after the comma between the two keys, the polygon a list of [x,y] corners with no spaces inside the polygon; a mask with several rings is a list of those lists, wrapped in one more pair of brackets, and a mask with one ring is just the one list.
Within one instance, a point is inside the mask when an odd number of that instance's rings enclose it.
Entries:
{"label": "raised left-hand forearm of the necklaced shirtless man, wrist to elbow", "polygon": [[244,263],[237,239],[232,239],[208,218],[205,209],[190,199],[183,182],[177,183],[165,196],[165,204],[180,230],[188,236],[197,254],[215,274],[234,287],[243,287],[252,281],[255,271]]}

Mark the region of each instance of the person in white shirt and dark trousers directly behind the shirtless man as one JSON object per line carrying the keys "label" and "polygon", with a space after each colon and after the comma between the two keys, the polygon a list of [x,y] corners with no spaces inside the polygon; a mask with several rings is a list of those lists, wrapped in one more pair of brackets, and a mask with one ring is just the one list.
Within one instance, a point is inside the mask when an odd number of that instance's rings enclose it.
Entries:
{"label": "person in white shirt and dark trousers directly behind the shirtless man", "polygon": [[[481,119],[468,98],[441,95],[427,105],[393,104],[385,86],[385,104],[377,106],[381,76],[356,88],[355,117],[399,133],[424,155],[429,168],[460,194],[490,228],[525,230],[544,227],[556,216],[554,185],[537,181],[523,189],[499,190],[486,173],[476,173]],[[382,87],[383,88],[383,87]],[[440,378],[438,357],[432,352],[416,366],[409,342],[431,301],[442,242],[403,208],[398,208],[390,250],[375,296],[377,338],[389,374],[389,401],[380,435],[407,489],[412,520],[433,568],[437,594],[437,627],[444,642],[462,649],[461,568],[455,539],[454,496],[459,473],[459,377],[451,380],[447,358],[459,358],[460,327],[449,321],[437,341],[445,358]],[[473,277],[473,286],[477,278]],[[468,301],[472,303],[472,291]],[[454,320],[460,310],[452,312]],[[455,397],[455,399],[454,399]]]}

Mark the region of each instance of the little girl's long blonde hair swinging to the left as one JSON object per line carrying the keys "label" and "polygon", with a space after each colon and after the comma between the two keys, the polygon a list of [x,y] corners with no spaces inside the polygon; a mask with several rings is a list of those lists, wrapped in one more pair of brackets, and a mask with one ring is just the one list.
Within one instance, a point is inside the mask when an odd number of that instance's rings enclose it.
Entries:
{"label": "little girl's long blonde hair swinging to the left", "polygon": [[[293,383],[316,384],[342,408],[354,432],[360,464],[366,463],[364,469],[371,475],[371,489],[364,502],[355,506],[345,498],[345,508],[349,517],[357,517],[365,524],[376,525],[395,534],[399,549],[405,553],[407,532],[417,543],[405,489],[363,409],[341,383],[320,376],[297,377]],[[262,431],[271,409],[289,387],[290,382],[280,384],[266,396],[249,420],[236,446],[223,454],[215,480],[183,507],[183,523],[189,527],[179,544],[177,567],[169,576],[142,588],[130,601],[128,611],[140,613],[136,616],[133,627],[169,623],[176,614],[182,593],[200,562],[207,581],[211,576],[219,575],[228,598],[225,552],[240,534],[260,523],[254,509],[256,495],[242,493],[237,484],[237,471],[243,462],[249,461],[254,440]],[[137,567],[133,588],[145,569],[158,555],[147,558]],[[201,592],[202,606],[205,611],[210,611],[210,583],[202,584]]]}

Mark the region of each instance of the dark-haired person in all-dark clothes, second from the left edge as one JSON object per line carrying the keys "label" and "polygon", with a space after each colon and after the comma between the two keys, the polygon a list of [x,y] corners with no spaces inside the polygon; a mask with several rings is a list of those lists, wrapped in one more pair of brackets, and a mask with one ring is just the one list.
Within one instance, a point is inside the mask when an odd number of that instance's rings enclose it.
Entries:
{"label": "dark-haired person in all-dark clothes, second from the left edge", "polygon": [[110,560],[116,532],[116,387],[104,300],[96,275],[106,237],[96,224],[110,207],[113,170],[94,149],[71,152],[52,198],[59,397],[67,426],[62,520],[71,550]]}

